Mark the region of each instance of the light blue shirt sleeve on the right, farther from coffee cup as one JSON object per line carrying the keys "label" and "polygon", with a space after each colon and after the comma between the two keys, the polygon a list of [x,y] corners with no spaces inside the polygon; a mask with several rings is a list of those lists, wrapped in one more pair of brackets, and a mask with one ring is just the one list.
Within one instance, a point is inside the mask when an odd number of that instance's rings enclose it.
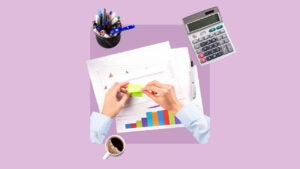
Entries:
{"label": "light blue shirt sleeve on the right, farther from coffee cup", "polygon": [[210,138],[210,118],[203,111],[191,103],[177,112],[176,117],[199,143],[205,144],[208,142]]}

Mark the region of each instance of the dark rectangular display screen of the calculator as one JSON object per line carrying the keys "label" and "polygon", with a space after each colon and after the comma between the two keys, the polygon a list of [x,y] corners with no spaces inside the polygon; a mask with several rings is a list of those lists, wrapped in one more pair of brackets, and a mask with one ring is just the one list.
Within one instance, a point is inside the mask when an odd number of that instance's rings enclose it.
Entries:
{"label": "dark rectangular display screen of the calculator", "polygon": [[196,29],[203,28],[205,26],[211,25],[211,24],[219,22],[219,21],[220,21],[219,15],[214,14],[214,15],[208,16],[206,18],[199,19],[195,22],[189,23],[189,24],[187,24],[187,27],[188,27],[189,31],[192,32]]}

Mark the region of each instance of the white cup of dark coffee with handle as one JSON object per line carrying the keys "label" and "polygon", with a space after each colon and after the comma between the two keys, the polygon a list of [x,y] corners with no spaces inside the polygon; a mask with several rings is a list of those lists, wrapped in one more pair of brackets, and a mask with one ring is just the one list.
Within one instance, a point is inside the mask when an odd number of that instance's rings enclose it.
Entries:
{"label": "white cup of dark coffee with handle", "polygon": [[109,156],[120,156],[125,151],[125,145],[125,140],[120,135],[109,136],[105,141],[106,153],[102,159],[106,160]]}

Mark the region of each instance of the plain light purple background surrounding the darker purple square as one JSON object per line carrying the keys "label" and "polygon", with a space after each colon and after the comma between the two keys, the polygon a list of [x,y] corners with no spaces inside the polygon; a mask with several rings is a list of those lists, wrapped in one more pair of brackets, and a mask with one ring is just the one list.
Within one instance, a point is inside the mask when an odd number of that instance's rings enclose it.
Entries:
{"label": "plain light purple background surrounding the darker purple square", "polygon": [[[103,145],[88,139],[85,65],[97,9],[115,9],[128,23],[179,25],[214,5],[238,53],[210,66],[210,142],[128,144],[120,158],[102,161]],[[298,1],[28,0],[0,6],[0,168],[300,167]]]}

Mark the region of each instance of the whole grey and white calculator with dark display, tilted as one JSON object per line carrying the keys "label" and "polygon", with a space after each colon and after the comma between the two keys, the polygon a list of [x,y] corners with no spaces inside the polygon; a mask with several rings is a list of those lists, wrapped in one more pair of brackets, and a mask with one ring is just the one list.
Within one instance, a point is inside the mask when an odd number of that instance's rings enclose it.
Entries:
{"label": "whole grey and white calculator with dark display, tilted", "polygon": [[183,23],[200,65],[235,53],[218,7],[185,17]]}

